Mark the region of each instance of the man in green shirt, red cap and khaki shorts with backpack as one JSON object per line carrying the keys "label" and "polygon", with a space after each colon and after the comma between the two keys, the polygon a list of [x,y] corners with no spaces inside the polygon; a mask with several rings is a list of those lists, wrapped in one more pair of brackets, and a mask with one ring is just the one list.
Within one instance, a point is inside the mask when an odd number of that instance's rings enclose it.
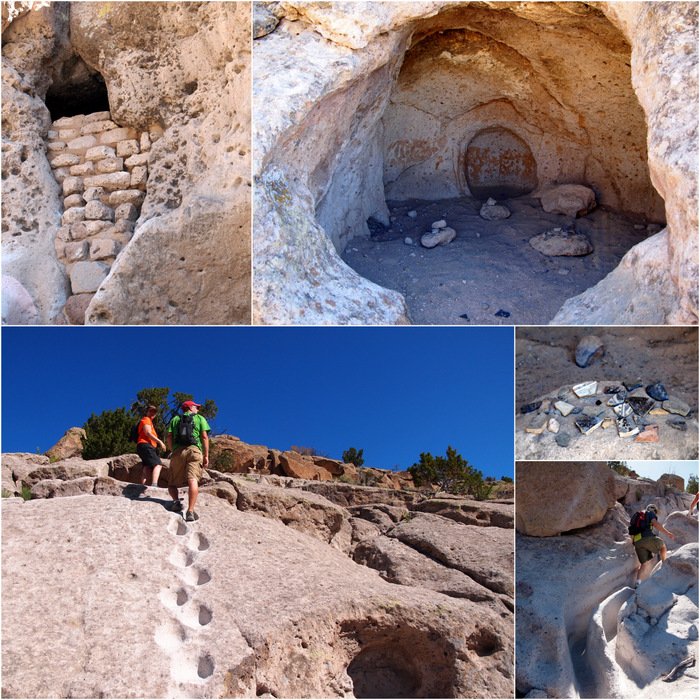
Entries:
{"label": "man in green shirt, red cap and khaki shorts with backpack", "polygon": [[194,505],[199,494],[199,481],[202,471],[209,465],[209,423],[199,415],[201,404],[185,401],[183,414],[175,416],[168,425],[168,447],[170,456],[170,477],[168,492],[173,499],[170,509],[179,512],[182,503],[178,497],[179,486],[187,486],[188,506],[185,520],[192,522],[199,516],[194,512]]}

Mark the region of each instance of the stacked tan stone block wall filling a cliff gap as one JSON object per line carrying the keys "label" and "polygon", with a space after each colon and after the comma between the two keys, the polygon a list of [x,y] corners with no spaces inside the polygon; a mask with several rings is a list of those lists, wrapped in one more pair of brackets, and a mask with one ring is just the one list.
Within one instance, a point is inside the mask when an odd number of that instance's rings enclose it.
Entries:
{"label": "stacked tan stone block wall filling a cliff gap", "polygon": [[151,143],[162,136],[120,127],[109,112],[62,117],[47,148],[64,213],[54,247],[72,296],[59,322],[82,324],[90,300],[134,233],[146,197]]}

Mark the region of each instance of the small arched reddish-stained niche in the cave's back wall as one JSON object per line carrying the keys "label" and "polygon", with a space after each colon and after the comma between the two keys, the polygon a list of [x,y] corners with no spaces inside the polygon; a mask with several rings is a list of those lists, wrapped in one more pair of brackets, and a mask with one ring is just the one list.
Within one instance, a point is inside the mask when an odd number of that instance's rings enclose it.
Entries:
{"label": "small arched reddish-stained niche in the cave's back wall", "polygon": [[519,197],[537,187],[532,151],[509,129],[496,126],[480,131],[469,142],[465,160],[473,197]]}

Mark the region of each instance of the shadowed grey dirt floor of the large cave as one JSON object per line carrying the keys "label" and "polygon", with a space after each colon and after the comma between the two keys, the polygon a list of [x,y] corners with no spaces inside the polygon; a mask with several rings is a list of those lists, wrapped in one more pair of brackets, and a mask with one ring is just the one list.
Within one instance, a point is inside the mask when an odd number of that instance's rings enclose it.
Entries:
{"label": "shadowed grey dirt floor of the large cave", "polygon": [[[647,235],[635,229],[635,219],[598,208],[576,220],[594,252],[551,258],[529,241],[543,230],[565,226],[564,217],[520,197],[507,200],[508,219],[485,221],[479,215],[482,201],[389,202],[390,225],[368,238],[353,238],[343,260],[363,277],[401,292],[414,323],[546,324],[569,297],[594,285]],[[417,216],[408,216],[414,210]],[[425,250],[417,242],[438,218],[456,231],[456,238]],[[415,243],[406,245],[407,237]],[[511,316],[497,317],[499,309]]]}

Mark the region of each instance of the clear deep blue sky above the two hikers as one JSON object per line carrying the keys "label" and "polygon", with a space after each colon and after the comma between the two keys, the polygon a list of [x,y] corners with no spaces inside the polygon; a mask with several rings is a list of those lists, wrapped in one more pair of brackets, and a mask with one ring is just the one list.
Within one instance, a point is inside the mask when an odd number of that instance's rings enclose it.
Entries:
{"label": "clear deep blue sky above the two hikers", "polygon": [[44,452],[145,387],[213,399],[215,430],[407,469],[448,445],[513,476],[508,327],[2,329],[2,451]]}

